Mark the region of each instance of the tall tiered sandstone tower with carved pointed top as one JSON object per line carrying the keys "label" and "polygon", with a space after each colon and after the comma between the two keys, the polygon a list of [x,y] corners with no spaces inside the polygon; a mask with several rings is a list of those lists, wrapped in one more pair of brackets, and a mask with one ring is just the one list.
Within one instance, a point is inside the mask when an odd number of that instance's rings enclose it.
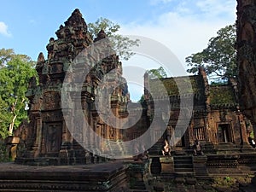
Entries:
{"label": "tall tiered sandstone tower with carved pointed top", "polygon": [[[57,165],[93,161],[93,154],[82,148],[67,129],[61,111],[61,87],[74,58],[93,42],[106,38],[106,34],[101,31],[93,40],[79,9],[73,11],[65,25],[61,25],[55,34],[57,39],[49,38],[49,44],[46,46],[47,58],[44,58],[43,53],[38,55],[36,66],[38,83],[35,78],[31,79],[26,93],[30,100],[30,123],[26,134],[26,151],[18,155],[16,159],[18,163]],[[84,63],[85,67],[86,65]],[[96,113],[94,103],[96,87],[101,82],[102,76],[113,69],[119,69],[118,77],[125,82],[121,77],[122,67],[118,56],[115,54],[108,56],[97,63],[84,79],[81,105],[93,131],[102,137],[117,140],[121,139],[122,135],[102,122]],[[125,116],[125,106],[129,101],[127,84],[117,86],[110,99],[113,113],[119,117]],[[79,124],[75,118],[71,123]],[[93,143],[94,138],[90,138],[87,142]]]}

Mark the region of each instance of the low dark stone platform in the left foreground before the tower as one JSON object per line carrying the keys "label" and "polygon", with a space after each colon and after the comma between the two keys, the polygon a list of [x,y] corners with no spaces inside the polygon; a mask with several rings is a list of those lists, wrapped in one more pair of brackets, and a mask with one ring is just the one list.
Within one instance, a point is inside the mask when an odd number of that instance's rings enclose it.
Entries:
{"label": "low dark stone platform in the left foreground before the tower", "polygon": [[126,166],[114,161],[83,166],[0,164],[0,191],[125,192]]}

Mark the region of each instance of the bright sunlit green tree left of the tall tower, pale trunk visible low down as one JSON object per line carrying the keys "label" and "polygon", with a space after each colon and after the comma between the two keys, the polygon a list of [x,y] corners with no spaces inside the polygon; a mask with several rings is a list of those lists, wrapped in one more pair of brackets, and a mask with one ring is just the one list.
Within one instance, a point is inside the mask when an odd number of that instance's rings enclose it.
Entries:
{"label": "bright sunlit green tree left of the tall tower, pale trunk visible low down", "polygon": [[27,117],[25,93],[36,70],[35,62],[26,55],[16,55],[13,49],[0,49],[0,55],[7,58],[0,68],[0,135],[6,137]]}

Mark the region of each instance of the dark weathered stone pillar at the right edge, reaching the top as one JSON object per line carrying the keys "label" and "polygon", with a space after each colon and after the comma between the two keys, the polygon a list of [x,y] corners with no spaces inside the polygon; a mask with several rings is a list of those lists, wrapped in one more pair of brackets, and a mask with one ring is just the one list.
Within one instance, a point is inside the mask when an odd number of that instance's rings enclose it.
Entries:
{"label": "dark weathered stone pillar at the right edge, reaching the top", "polygon": [[237,0],[237,62],[242,112],[256,124],[256,2]]}

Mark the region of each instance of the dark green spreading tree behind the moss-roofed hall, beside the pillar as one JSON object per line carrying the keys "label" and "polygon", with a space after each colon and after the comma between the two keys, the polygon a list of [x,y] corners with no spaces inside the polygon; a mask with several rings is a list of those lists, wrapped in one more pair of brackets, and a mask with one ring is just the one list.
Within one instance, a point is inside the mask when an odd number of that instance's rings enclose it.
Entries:
{"label": "dark green spreading tree behind the moss-roofed hall, beside the pillar", "polygon": [[[212,79],[236,77],[236,24],[225,26],[210,38],[208,46],[199,53],[186,57],[189,73],[197,73],[198,67],[204,67]],[[211,78],[210,77],[210,78]]]}

